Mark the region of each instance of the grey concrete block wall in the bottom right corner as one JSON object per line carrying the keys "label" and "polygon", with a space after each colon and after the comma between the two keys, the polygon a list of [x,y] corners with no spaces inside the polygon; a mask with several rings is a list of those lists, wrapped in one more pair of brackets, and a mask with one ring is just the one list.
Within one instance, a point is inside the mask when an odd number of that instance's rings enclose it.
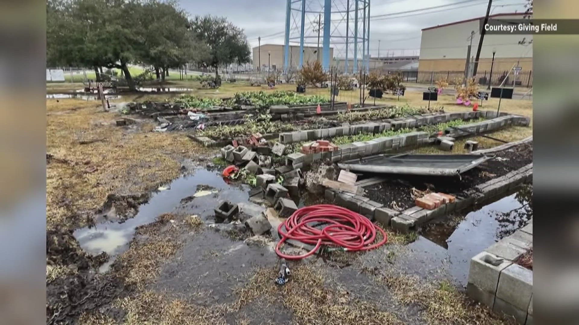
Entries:
{"label": "grey concrete block wall in the bottom right corner", "polygon": [[533,324],[533,271],[516,264],[533,245],[533,219],[527,226],[471,258],[467,294],[494,312]]}

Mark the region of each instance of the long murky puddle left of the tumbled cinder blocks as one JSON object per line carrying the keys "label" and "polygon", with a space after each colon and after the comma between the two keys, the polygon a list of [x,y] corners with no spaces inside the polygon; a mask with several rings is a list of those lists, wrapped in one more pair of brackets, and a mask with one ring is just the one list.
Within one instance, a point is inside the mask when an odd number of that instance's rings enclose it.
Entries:
{"label": "long murky puddle left of the tumbled cinder blocks", "polygon": [[219,200],[229,200],[233,203],[248,200],[248,189],[245,189],[245,186],[229,186],[218,172],[197,169],[193,175],[178,178],[166,186],[167,189],[153,194],[151,200],[139,206],[138,213],[133,218],[123,223],[109,221],[91,228],[80,228],[74,232],[74,236],[86,252],[90,254],[106,252],[109,255],[109,261],[100,269],[106,271],[112,264],[113,257],[129,248],[129,242],[133,239],[137,227],[152,223],[157,216],[172,212],[181,206],[183,198],[197,193],[198,185],[208,185],[217,190],[199,193],[206,195],[197,196],[191,202],[193,207],[187,212],[198,214],[203,219],[213,215],[213,209]]}

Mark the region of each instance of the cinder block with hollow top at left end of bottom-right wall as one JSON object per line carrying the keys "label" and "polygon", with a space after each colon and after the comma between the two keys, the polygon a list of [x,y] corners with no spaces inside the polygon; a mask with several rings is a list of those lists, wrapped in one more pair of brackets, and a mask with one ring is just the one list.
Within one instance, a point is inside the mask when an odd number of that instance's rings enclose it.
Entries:
{"label": "cinder block with hollow top at left end of bottom-right wall", "polygon": [[490,294],[496,294],[499,276],[512,262],[488,252],[478,253],[471,258],[468,282]]}

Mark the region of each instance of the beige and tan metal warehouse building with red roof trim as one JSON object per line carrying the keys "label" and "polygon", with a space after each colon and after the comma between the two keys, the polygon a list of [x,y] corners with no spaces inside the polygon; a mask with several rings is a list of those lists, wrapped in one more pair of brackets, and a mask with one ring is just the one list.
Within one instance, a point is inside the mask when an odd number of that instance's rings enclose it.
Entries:
{"label": "beige and tan metal warehouse building with red roof trim", "polygon": [[[523,14],[499,13],[489,17],[501,20],[523,19]],[[419,72],[465,71],[471,32],[475,32],[471,48],[471,61],[474,61],[484,19],[485,17],[478,17],[422,29]],[[493,52],[494,72],[508,71],[516,64],[523,72],[530,73],[533,69],[533,45],[519,45],[523,38],[529,41],[532,40],[532,35],[485,34],[477,75],[490,71]]]}

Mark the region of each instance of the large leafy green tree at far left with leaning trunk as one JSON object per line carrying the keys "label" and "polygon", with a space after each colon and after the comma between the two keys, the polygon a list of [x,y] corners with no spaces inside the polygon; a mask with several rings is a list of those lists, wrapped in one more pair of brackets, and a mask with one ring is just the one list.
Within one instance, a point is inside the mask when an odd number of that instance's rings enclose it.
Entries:
{"label": "large leafy green tree at far left with leaning trunk", "polygon": [[135,90],[129,64],[136,61],[144,43],[133,15],[140,6],[134,0],[49,0],[48,61],[96,72],[99,67],[118,68]]}

